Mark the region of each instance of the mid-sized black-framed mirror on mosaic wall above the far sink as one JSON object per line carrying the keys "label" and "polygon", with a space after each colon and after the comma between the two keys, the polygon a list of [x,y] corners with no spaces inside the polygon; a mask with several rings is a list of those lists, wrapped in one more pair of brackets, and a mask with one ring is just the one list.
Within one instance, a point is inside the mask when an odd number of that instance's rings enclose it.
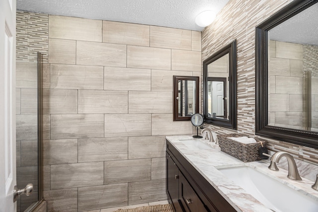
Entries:
{"label": "mid-sized black-framed mirror on mosaic wall above the far sink", "polygon": [[203,61],[203,115],[205,123],[237,129],[236,40]]}

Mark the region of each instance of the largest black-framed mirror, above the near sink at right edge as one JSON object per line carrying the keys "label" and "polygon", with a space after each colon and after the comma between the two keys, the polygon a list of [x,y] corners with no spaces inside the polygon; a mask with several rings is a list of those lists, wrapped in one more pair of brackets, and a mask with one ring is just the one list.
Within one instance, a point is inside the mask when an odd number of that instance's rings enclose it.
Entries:
{"label": "largest black-framed mirror, above the near sink at right edge", "polygon": [[317,11],[294,0],[256,27],[256,135],[318,148]]}

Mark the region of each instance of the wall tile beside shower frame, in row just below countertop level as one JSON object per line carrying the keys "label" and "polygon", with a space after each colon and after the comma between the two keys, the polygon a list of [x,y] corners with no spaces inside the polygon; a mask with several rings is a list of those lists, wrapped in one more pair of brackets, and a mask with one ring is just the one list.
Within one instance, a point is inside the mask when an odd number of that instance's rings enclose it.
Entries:
{"label": "wall tile beside shower frame, in row just below countertop level", "polygon": [[78,162],[78,140],[43,140],[43,164]]}

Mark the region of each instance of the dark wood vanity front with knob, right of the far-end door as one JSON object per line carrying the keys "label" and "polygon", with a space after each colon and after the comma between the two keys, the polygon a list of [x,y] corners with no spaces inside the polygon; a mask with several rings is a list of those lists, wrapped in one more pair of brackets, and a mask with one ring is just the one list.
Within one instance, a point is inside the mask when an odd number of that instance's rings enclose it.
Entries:
{"label": "dark wood vanity front with knob, right of the far-end door", "polygon": [[185,209],[189,212],[208,212],[200,198],[192,189],[183,174],[179,171],[179,198]]}

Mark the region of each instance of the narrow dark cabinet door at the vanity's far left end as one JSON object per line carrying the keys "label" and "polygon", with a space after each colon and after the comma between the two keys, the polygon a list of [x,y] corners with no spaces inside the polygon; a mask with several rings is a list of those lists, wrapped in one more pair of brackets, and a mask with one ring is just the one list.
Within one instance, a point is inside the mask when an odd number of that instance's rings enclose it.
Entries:
{"label": "narrow dark cabinet door at the vanity's far left end", "polygon": [[170,196],[171,202],[173,203],[174,210],[176,212],[182,212],[179,199],[179,169],[174,163],[170,155],[166,154],[166,175],[167,175],[167,194]]}

